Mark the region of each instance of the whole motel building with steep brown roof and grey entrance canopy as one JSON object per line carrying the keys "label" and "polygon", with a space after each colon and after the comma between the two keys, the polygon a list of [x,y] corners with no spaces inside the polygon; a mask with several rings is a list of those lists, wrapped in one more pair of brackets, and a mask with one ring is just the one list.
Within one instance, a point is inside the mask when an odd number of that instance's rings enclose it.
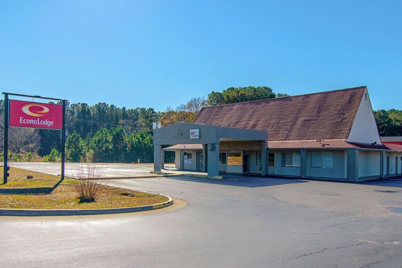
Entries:
{"label": "whole motel building with steep brown roof and grey entrance canopy", "polygon": [[[167,147],[166,147],[167,146]],[[183,171],[363,181],[401,175],[402,139],[379,137],[367,87],[202,108],[193,123],[154,130]]]}

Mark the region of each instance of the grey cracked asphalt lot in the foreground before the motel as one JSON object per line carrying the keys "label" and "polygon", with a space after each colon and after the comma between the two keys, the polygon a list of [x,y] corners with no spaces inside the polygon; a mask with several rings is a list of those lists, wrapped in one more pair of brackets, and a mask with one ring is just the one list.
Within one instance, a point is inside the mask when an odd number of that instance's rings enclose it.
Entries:
{"label": "grey cracked asphalt lot in the foreground before the motel", "polygon": [[400,267],[401,180],[105,180],[189,204],[139,216],[0,217],[0,258],[6,267]]}

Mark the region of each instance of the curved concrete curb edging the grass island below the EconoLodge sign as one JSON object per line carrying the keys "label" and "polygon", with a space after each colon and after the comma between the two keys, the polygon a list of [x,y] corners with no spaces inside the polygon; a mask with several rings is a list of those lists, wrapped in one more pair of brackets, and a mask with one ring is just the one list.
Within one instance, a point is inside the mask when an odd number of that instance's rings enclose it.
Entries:
{"label": "curved concrete curb edging the grass island below the EconoLodge sign", "polygon": [[[154,193],[152,193],[154,194]],[[165,196],[162,194],[162,196]],[[170,196],[168,201],[148,206],[134,206],[129,208],[96,208],[96,209],[0,209],[0,216],[75,216],[75,215],[99,215],[116,214],[126,212],[147,211],[158,208],[165,208],[173,204]]]}

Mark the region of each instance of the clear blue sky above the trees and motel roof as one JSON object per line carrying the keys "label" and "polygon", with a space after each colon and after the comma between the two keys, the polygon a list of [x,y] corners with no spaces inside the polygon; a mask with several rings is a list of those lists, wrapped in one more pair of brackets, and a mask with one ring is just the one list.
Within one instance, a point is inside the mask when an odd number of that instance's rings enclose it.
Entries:
{"label": "clear blue sky above the trees and motel roof", "polygon": [[0,88],[119,107],[367,85],[402,109],[402,1],[0,2]]}

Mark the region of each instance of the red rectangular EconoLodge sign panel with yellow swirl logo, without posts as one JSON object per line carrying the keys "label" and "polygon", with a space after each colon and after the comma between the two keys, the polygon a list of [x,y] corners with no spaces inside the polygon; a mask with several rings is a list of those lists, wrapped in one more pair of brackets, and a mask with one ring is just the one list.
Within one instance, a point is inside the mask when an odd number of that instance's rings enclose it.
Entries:
{"label": "red rectangular EconoLodge sign panel with yellow swirl logo, without posts", "polygon": [[10,99],[8,126],[63,129],[63,105]]}

